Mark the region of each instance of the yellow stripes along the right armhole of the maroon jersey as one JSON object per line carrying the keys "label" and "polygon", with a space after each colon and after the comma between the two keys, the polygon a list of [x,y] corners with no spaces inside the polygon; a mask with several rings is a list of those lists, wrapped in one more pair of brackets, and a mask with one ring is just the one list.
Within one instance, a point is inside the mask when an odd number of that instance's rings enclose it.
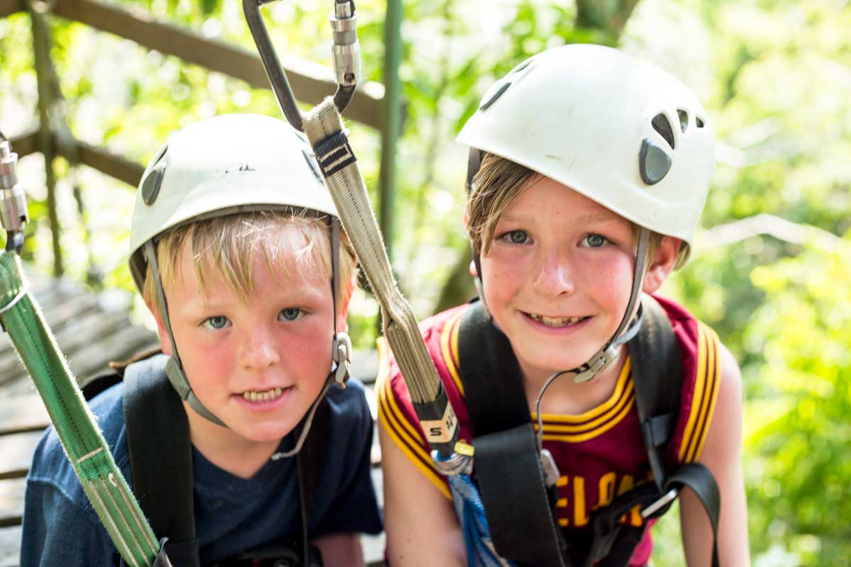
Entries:
{"label": "yellow stripes along the right armhole of the maroon jersey", "polygon": [[706,439],[715,411],[721,372],[717,364],[718,343],[715,332],[698,323],[697,371],[688,422],[680,443],[680,462],[695,462]]}

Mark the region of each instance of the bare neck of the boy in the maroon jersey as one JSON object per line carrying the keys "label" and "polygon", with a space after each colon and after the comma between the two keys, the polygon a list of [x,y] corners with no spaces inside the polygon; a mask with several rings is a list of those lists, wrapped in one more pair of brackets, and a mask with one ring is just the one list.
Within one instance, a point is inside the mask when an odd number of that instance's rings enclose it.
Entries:
{"label": "bare neck of the boy in the maroon jersey", "polygon": [[[541,413],[576,416],[585,413],[585,411],[590,411],[608,400],[618,383],[626,355],[626,347],[620,347],[618,359],[597,374],[590,382],[575,383],[572,374],[557,377],[549,388],[546,388],[546,393],[540,404]],[[523,387],[526,390],[529,410],[535,411],[535,402],[538,400],[540,389],[544,387],[552,372],[531,369],[525,367],[522,362],[520,368],[523,372]]]}

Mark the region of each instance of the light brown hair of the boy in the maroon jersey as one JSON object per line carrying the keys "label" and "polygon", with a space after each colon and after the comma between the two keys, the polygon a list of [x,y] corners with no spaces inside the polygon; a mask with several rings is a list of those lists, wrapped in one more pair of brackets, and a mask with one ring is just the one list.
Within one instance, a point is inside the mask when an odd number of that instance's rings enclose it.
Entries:
{"label": "light brown hair of the boy in the maroon jersey", "polygon": [[[482,166],[473,178],[470,195],[467,196],[467,235],[473,247],[480,254],[487,254],[494,241],[496,224],[511,207],[511,203],[527,188],[527,182],[538,173],[528,167],[511,162],[505,157],[485,153]],[[633,240],[637,240],[641,230],[635,223],[632,227]],[[647,258],[653,258],[659,249],[664,235],[650,231]],[[688,244],[683,242],[677,256],[675,268],[685,264],[688,259]],[[645,265],[645,270],[648,268]]]}

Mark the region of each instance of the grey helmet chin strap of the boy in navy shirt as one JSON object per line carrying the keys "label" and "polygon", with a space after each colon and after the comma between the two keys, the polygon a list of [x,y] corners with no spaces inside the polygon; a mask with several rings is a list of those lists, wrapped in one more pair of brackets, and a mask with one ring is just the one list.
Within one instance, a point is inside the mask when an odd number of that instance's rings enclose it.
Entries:
{"label": "grey helmet chin strap of the boy in navy shirt", "polygon": [[[163,317],[163,326],[168,332],[168,340],[171,342],[171,356],[166,362],[165,373],[168,377],[168,382],[171,383],[174,390],[180,395],[181,400],[186,400],[190,407],[197,412],[198,415],[204,417],[210,422],[227,428],[226,424],[209,411],[198,400],[189,380],[186,378],[186,371],[183,370],[183,365],[180,363],[180,354],[177,351],[177,343],[174,342],[174,333],[171,330],[171,321],[168,319],[168,303],[166,303],[165,292],[163,290],[163,281],[159,274],[159,264],[157,264],[157,250],[152,241],[147,241],[143,248],[146,257],[146,262],[151,266],[151,276],[153,277],[154,287],[157,290],[157,299],[162,306],[161,314]],[[332,328],[331,355],[333,366],[328,373],[328,378],[323,384],[323,388],[319,391],[317,399],[313,400],[310,409],[302,420],[304,426],[301,428],[299,439],[296,440],[295,446],[290,451],[280,451],[271,456],[271,460],[294,456],[301,450],[304,445],[307,434],[310,433],[313,417],[316,414],[317,407],[322,402],[325,394],[328,394],[328,389],[331,384],[336,382],[340,388],[346,387],[351,371],[351,339],[346,332],[337,332],[337,303],[338,303],[338,288],[340,281],[340,219],[331,217],[331,298],[334,303],[332,317],[334,323]]]}

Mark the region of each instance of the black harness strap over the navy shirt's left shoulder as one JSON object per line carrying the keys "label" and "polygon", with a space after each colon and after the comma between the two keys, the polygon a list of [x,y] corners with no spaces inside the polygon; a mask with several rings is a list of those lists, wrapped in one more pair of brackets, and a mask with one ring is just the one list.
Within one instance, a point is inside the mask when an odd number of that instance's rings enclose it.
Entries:
{"label": "black harness strap over the navy shirt's left shoulder", "polygon": [[124,423],[133,491],[175,567],[197,567],[189,422],[158,354],[124,371]]}

